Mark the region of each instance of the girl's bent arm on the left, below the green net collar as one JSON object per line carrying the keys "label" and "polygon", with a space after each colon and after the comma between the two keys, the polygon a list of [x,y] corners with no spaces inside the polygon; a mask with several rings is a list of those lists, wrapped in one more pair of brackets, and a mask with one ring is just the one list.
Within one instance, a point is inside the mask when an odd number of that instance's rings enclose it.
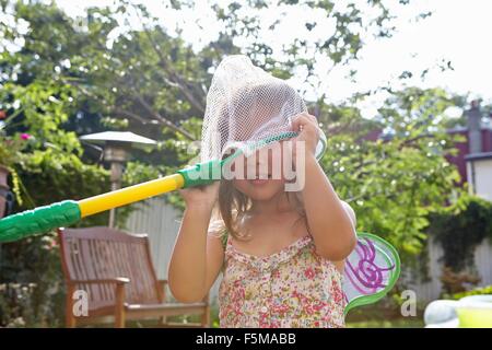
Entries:
{"label": "girl's bent arm on the left, below the green net collar", "polygon": [[223,264],[221,240],[208,234],[218,186],[181,190],[187,205],[171,257],[168,283],[176,300],[184,303],[201,301]]}

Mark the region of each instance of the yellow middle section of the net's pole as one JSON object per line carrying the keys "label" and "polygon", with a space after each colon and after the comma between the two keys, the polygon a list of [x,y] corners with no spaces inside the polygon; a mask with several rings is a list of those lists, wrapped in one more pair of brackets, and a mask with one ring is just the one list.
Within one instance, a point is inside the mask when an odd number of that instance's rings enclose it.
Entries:
{"label": "yellow middle section of the net's pole", "polygon": [[81,218],[85,218],[113,208],[122,207],[149,197],[162,195],[181,188],[185,179],[180,174],[153,179],[115,191],[78,201]]}

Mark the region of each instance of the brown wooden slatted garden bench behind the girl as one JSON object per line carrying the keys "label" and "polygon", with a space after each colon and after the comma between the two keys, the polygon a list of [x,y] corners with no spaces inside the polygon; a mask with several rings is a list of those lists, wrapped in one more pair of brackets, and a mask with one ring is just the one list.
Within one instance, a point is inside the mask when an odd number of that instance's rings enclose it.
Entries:
{"label": "brown wooden slatted garden bench behind the girl", "polygon": [[[114,318],[118,328],[125,327],[127,319],[160,318],[166,324],[166,316],[184,314],[200,314],[200,324],[192,325],[209,326],[208,295],[200,303],[166,300],[167,281],[156,279],[145,234],[90,228],[59,229],[58,236],[67,281],[67,327],[108,318]],[[73,312],[78,290],[87,293],[86,316]]]}

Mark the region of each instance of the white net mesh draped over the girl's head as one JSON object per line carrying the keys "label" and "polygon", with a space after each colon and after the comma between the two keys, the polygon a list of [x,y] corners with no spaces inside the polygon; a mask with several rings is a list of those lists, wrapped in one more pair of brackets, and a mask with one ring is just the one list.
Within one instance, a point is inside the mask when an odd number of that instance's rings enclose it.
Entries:
{"label": "white net mesh draped over the girl's head", "polygon": [[292,131],[292,118],[306,112],[285,81],[255,67],[246,56],[229,56],[207,95],[200,158],[219,160],[232,147]]}

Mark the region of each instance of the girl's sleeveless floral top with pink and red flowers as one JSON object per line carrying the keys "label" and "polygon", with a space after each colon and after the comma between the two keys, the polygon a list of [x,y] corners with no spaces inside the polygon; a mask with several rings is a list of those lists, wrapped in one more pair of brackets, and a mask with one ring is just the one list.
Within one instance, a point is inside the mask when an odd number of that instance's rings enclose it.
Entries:
{"label": "girl's sleeveless floral top with pink and red flowers", "polygon": [[344,327],[342,275],[316,254],[311,235],[267,257],[224,243],[221,327]]}

